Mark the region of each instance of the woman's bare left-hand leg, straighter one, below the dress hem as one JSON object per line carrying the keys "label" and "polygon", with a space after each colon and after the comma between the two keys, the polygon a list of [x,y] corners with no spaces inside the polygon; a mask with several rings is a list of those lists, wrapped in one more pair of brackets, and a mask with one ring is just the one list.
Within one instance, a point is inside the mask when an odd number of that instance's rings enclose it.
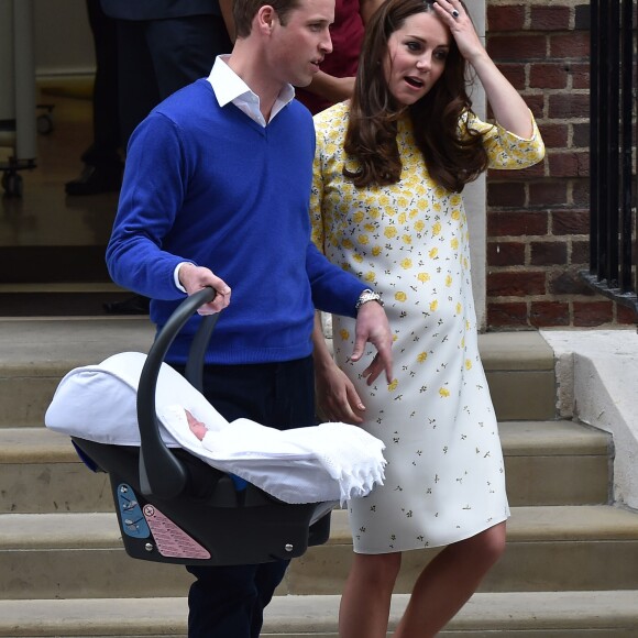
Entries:
{"label": "woman's bare left-hand leg, straighter one, below the dress hem", "polygon": [[386,638],[400,553],[355,553],[339,609],[341,638]]}

